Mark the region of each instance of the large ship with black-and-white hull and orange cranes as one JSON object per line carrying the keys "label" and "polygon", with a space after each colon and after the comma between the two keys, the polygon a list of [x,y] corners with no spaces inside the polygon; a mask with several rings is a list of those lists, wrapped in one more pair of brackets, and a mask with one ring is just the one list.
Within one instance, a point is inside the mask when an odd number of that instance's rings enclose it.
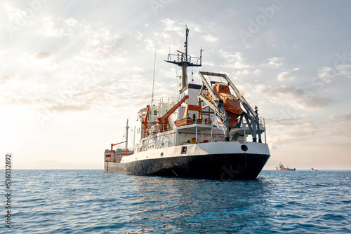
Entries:
{"label": "large ship with black-and-white hull and orange cranes", "polygon": [[[126,140],[104,153],[105,172],[209,179],[254,179],[270,158],[264,118],[258,116],[226,74],[199,71],[200,84],[189,83],[187,67],[201,67],[185,51],[168,54],[182,68],[179,97],[161,97],[138,111],[133,148]],[[264,136],[264,142],[263,142]],[[129,141],[131,144],[131,141]],[[125,144],[124,148],[113,149]]]}

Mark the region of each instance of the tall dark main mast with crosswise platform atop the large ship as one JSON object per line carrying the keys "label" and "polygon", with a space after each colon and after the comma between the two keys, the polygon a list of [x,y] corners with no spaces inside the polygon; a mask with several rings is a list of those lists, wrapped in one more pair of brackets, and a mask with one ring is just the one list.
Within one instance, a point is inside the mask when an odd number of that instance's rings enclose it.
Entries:
{"label": "tall dark main mast with crosswise platform atop the large ship", "polygon": [[[166,62],[170,62],[173,64],[178,65],[179,67],[182,67],[182,76],[181,76],[181,83],[180,83],[180,90],[182,90],[186,85],[187,85],[187,67],[201,67],[201,55],[202,55],[202,48],[200,50],[200,57],[191,57],[188,55],[188,39],[189,39],[189,29],[185,25],[185,42],[184,42],[184,47],[185,47],[185,53],[177,50],[178,54],[174,55],[169,53],[168,54],[168,60],[165,60]],[[180,55],[179,55],[180,53]],[[177,60],[174,59],[174,57],[177,56]],[[172,60],[173,57],[173,60]],[[196,60],[196,63],[192,62],[193,60]]]}

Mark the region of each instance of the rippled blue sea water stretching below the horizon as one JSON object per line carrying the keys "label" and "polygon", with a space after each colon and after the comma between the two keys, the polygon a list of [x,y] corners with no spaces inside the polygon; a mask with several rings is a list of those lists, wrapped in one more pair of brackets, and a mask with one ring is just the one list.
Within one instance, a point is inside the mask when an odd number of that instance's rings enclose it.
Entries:
{"label": "rippled blue sea water stretching below the horizon", "polygon": [[351,171],[218,181],[13,170],[11,179],[11,228],[0,209],[0,233],[351,233]]}

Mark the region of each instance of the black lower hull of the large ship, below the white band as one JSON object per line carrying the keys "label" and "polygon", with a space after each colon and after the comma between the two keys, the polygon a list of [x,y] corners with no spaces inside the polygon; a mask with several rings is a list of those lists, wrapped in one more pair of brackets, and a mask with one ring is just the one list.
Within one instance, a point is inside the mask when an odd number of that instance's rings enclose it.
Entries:
{"label": "black lower hull of the large ship, below the white band", "polygon": [[105,162],[105,172],[220,180],[255,179],[269,158],[269,154],[224,153],[152,158],[129,163]]}

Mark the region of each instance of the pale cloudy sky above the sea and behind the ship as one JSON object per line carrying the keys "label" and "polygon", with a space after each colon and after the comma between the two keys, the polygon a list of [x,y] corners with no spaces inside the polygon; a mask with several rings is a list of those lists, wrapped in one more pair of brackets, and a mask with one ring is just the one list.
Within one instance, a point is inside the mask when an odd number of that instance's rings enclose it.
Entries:
{"label": "pale cloudy sky above the sea and behind the ship", "polygon": [[[0,153],[15,169],[103,169],[126,119],[176,97],[183,50],[265,118],[271,158],[351,169],[350,1],[0,1]],[[192,81],[192,79],[194,81]],[[3,158],[3,157],[1,157]],[[4,159],[4,158],[3,158]],[[4,168],[5,160],[0,161]]]}

